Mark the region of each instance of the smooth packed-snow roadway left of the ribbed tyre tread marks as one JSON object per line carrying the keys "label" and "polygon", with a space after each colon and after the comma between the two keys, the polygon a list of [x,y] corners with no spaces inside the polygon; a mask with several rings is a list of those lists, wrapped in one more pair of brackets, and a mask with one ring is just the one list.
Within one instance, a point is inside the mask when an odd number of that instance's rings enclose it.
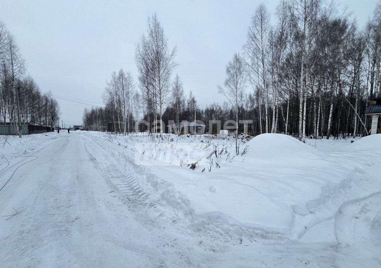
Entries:
{"label": "smooth packed-snow roadway left of the ribbed tyre tread marks", "polygon": [[[168,237],[143,227],[112,193],[84,141],[83,135],[65,135],[34,150],[38,158],[20,167],[0,191],[0,215],[26,208],[9,220],[1,218],[2,267],[181,263],[176,252],[163,256]],[[18,157],[3,170],[1,183],[26,159]]]}

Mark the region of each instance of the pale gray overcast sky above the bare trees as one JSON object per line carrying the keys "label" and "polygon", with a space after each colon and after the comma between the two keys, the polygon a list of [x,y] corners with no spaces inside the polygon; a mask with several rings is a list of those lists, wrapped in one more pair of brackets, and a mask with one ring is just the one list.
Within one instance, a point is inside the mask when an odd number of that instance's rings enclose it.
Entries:
{"label": "pale gray overcast sky above the bare trees", "polygon": [[[14,35],[27,71],[42,92],[102,104],[113,71],[131,71],[137,82],[135,43],[154,12],[171,47],[177,45],[177,73],[186,95],[200,108],[222,103],[226,63],[241,51],[256,6],[270,13],[278,0],[242,1],[17,1],[0,0],[0,20]],[[373,16],[376,0],[341,1],[360,27]],[[340,1],[338,1],[340,3]],[[247,90],[250,90],[249,88]],[[84,104],[57,99],[67,125],[81,124]],[[95,104],[95,105],[99,105]]]}

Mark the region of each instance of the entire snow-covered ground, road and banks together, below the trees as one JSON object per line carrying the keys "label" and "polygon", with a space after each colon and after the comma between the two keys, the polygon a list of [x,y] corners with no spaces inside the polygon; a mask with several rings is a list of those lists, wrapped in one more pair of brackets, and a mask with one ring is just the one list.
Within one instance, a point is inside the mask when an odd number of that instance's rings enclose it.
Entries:
{"label": "entire snow-covered ground, road and banks together, below the trees", "polygon": [[6,267],[381,266],[381,135],[0,138]]}

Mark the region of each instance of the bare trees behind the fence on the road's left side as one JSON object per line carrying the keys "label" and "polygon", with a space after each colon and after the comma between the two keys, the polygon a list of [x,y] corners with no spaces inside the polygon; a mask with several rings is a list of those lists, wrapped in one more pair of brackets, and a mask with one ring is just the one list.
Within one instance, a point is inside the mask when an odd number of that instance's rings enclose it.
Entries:
{"label": "bare trees behind the fence on the road's left side", "polygon": [[17,124],[17,94],[21,124],[53,127],[59,105],[50,93],[40,88],[26,73],[26,64],[13,35],[0,21],[0,122]]}

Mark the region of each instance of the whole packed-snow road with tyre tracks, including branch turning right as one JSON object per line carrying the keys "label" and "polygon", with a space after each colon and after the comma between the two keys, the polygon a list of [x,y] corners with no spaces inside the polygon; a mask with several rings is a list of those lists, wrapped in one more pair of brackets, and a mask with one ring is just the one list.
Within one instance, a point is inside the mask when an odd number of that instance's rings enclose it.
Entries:
{"label": "whole packed-snow road with tyre tracks, including branch turning right", "polygon": [[150,170],[156,167],[118,159],[125,148],[86,132],[29,139],[0,148],[0,156],[10,160],[6,167],[1,159],[0,187],[14,172],[0,191],[0,216],[23,210],[0,217],[1,267],[348,268],[381,263],[379,194],[343,205],[336,216],[341,244],[266,239],[240,244],[162,204],[157,195],[163,182],[156,182],[154,193],[144,180],[136,180],[153,177]]}

